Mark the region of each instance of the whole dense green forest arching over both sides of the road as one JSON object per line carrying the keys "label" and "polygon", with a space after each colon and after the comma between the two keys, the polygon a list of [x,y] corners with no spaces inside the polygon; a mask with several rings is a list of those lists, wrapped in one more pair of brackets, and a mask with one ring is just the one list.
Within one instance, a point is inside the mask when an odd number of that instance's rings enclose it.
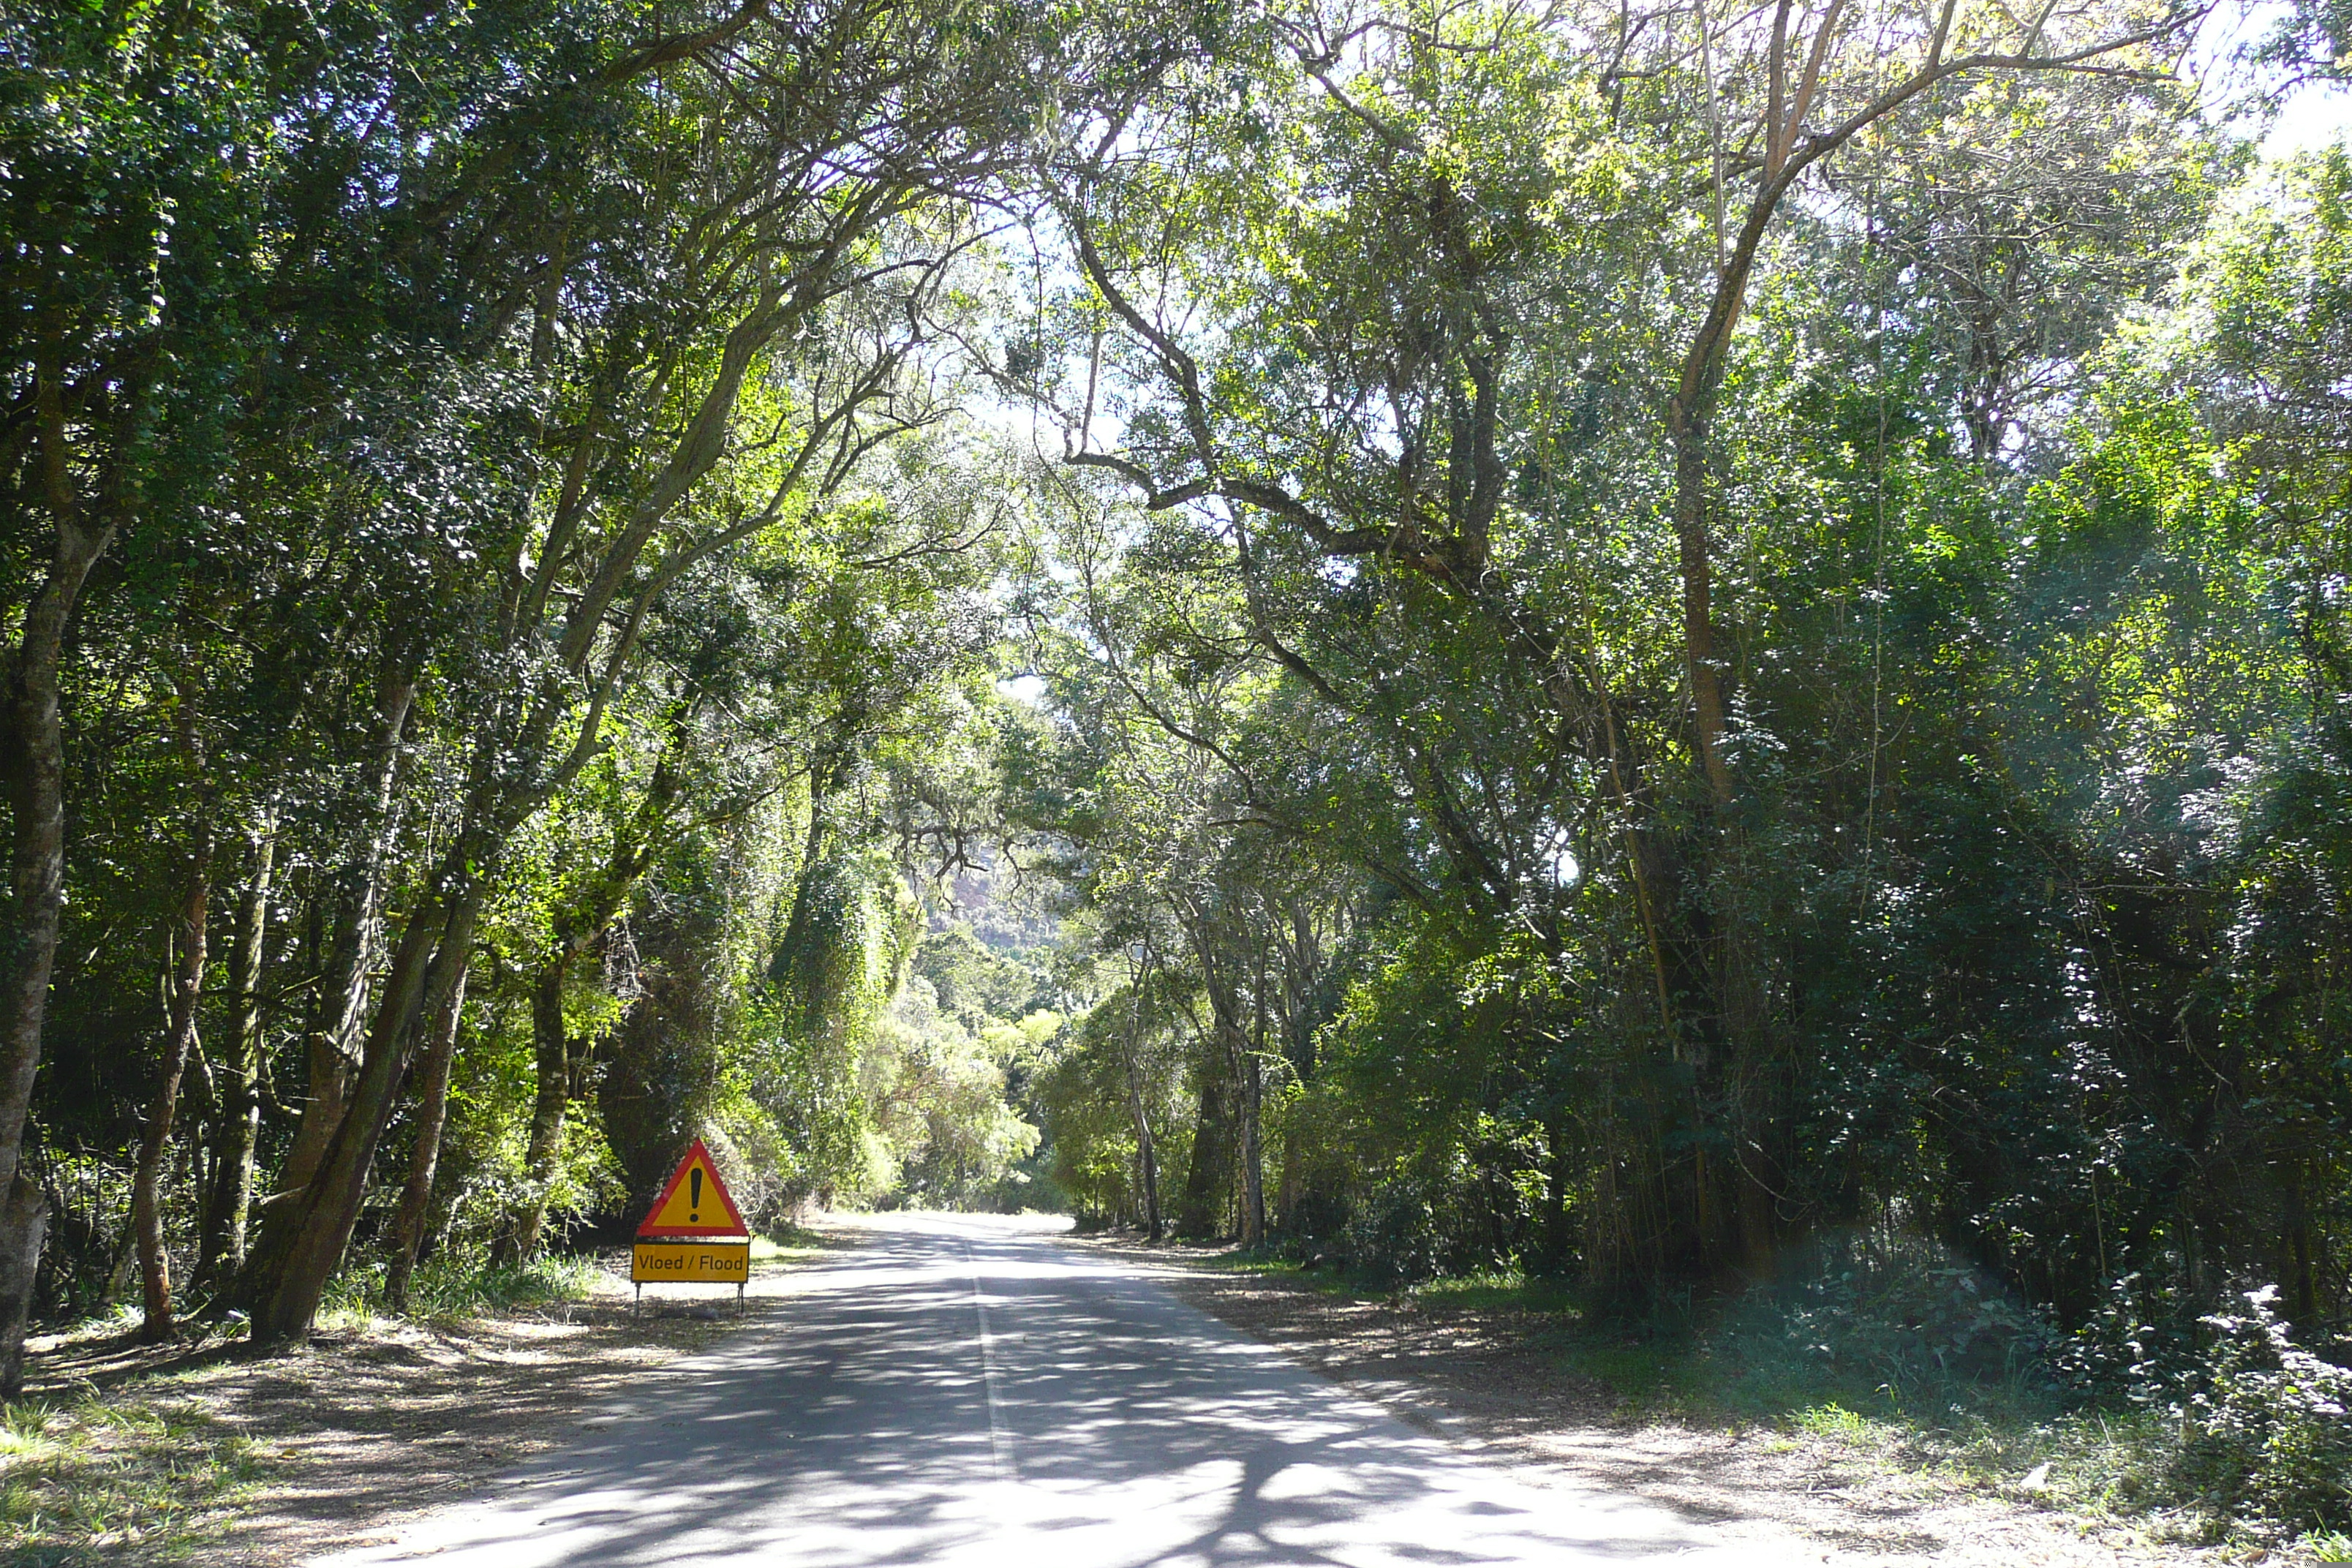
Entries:
{"label": "whole dense green forest arching over both sides of the road", "polygon": [[2258,150],[2352,14],[2209,21],[9,5],[0,1385],[701,1135],[1616,1321],[1926,1258],[2352,1526],[2352,155]]}

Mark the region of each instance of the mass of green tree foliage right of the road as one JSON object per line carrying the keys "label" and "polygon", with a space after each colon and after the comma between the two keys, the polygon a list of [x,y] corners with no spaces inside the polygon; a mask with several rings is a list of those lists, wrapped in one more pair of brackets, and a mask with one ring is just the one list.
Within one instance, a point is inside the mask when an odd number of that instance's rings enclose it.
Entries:
{"label": "mass of green tree foliage right of the road", "polygon": [[[1955,1465],[2114,1415],[2178,1500],[2133,1368],[2211,1380],[2263,1279],[2324,1359],[2352,1288],[2343,155],[1926,92],[1759,209],[1715,390],[1748,186],[1691,127],[1769,73],[1406,12],[1181,68],[1073,176],[1063,1185],[1134,1220],[1174,1114],[1181,1222],[1249,1255],[1576,1279],[1726,1399],[1950,1394]],[[2213,1507],[2314,1523],[2303,1441]]]}

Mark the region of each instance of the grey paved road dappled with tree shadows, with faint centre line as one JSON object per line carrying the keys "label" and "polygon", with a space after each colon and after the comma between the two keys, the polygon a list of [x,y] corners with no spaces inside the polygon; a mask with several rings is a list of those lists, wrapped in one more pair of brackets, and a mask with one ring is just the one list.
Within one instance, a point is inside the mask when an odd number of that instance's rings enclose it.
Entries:
{"label": "grey paved road dappled with tree shadows, with faint centre line", "polygon": [[[990,1220],[884,1218],[783,1312],[320,1568],[1757,1563],[1665,1509],[1470,1458]],[[1818,1556],[1813,1559],[1818,1561]]]}

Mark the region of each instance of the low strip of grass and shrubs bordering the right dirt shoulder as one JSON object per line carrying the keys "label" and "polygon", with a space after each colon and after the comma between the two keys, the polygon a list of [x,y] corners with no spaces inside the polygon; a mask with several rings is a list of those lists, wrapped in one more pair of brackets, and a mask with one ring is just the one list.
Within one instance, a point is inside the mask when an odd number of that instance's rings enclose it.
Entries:
{"label": "low strip of grass and shrubs bordering the right dirt shoulder", "polygon": [[[2171,1361],[2126,1349],[2093,1378],[2084,1335],[1910,1237],[1837,1239],[1776,1286],[1642,1316],[1517,1269],[1395,1288],[1272,1255],[1228,1253],[1221,1267],[1416,1309],[1529,1314],[1529,1338],[1632,1418],[1764,1427],[2169,1535],[2352,1561],[2352,1371],[2300,1347],[2267,1288],[2176,1335]],[[2145,1326],[2117,1338],[2154,1340]]]}

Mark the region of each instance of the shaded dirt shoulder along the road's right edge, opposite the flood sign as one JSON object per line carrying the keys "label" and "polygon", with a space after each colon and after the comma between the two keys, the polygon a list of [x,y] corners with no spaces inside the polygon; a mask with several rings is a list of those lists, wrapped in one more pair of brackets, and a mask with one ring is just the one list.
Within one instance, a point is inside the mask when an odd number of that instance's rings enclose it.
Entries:
{"label": "shaded dirt shoulder along the road's right edge, opposite the flood sign", "polygon": [[[2140,1521],[2037,1507],[2020,1483],[1922,1472],[1811,1432],[1705,1429],[1630,1413],[1604,1382],[1545,1347],[1557,1319],[1374,1300],[1287,1274],[1216,1267],[1218,1253],[1075,1237],[1073,1246],[1162,1265],[1185,1302],[1265,1340],[1463,1448],[1529,1479],[1635,1493],[1710,1523],[1757,1556],[1839,1568],[2216,1568],[2213,1547],[2154,1540]],[[2018,1479],[2023,1481],[2023,1479]],[[2286,1559],[2270,1559],[2286,1561]]]}

